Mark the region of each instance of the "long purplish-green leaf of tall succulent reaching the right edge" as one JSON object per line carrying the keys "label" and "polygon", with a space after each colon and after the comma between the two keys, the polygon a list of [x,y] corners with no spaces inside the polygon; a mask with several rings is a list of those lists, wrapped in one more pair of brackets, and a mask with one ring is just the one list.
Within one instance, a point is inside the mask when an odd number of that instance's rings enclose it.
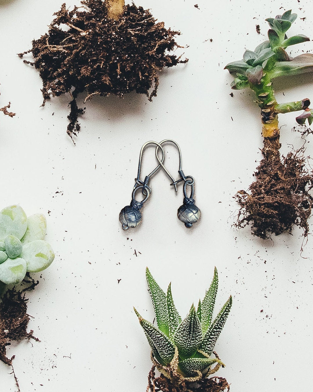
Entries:
{"label": "long purplish-green leaf of tall succulent reaching the right edge", "polygon": [[273,67],[271,78],[291,76],[313,72],[313,54],[304,53],[291,61],[277,62]]}

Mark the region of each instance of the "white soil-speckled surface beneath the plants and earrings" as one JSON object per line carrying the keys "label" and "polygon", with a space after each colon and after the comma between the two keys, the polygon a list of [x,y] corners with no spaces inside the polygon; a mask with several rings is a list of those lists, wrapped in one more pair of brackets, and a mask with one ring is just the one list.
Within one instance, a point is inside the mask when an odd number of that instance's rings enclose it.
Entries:
{"label": "white soil-speckled surface beneath the plants and earrings", "polygon": [[[0,106],[11,100],[16,112],[13,119],[0,113],[0,207],[18,203],[28,215],[43,212],[47,240],[56,251],[40,286],[29,294],[29,329],[41,343],[8,348],[8,356],[16,355],[21,390],[145,391],[149,346],[132,307],[153,320],[146,266],[164,290],[172,281],[183,317],[203,298],[217,266],[216,312],[229,294],[234,297],[216,345],[227,365],[217,375],[227,377],[232,392],[291,392],[300,383],[310,385],[313,238],[301,254],[300,230],[262,241],[249,228],[232,226],[238,208],[233,196],[253,180],[262,139],[253,95],[241,90],[231,98],[232,78],[223,67],[265,40],[264,19],[284,10],[298,14],[292,34],[310,35],[313,5],[197,0],[197,9],[195,0],[136,3],[182,32],[178,43],[189,46],[177,53],[190,60],[162,73],[152,103],[136,94],[88,102],[74,146],[66,134],[69,97],[40,107],[39,74],[16,56],[47,31],[62,2],[0,1]],[[312,52],[312,45],[297,45],[292,53]],[[277,100],[313,99],[311,82],[311,75],[276,81]],[[301,145],[291,131],[294,118],[294,113],[280,117],[283,153],[288,143]],[[131,200],[140,147],[164,138],[179,143],[183,170],[196,180],[201,220],[192,230],[177,220],[182,188],[175,195],[159,172],[151,180],[142,224],[124,232],[118,216]],[[176,151],[165,151],[176,177]],[[145,156],[143,175],[154,167],[153,154],[150,149]],[[1,392],[16,390],[9,373],[1,364]]]}

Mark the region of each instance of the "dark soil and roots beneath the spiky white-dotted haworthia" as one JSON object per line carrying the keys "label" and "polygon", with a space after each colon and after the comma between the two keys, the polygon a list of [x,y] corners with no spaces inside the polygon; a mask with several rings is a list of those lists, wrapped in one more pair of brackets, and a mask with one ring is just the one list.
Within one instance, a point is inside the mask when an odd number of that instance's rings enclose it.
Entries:
{"label": "dark soil and roots beneath the spiky white-dotted haworthia", "polygon": [[230,385],[225,378],[211,377],[200,381],[174,384],[167,377],[155,375],[155,365],[151,368],[148,376],[147,392],[228,392]]}

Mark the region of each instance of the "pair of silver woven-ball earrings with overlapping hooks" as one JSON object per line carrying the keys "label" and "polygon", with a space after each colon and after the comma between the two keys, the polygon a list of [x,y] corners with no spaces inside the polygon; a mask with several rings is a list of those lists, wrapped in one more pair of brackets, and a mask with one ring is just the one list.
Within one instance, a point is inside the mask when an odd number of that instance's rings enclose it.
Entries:
{"label": "pair of silver woven-ball earrings with overlapping hooks", "polygon": [[[178,169],[178,174],[180,175],[179,180],[174,180],[174,178],[169,174],[165,166],[163,165],[164,158],[165,158],[165,153],[164,149],[162,147],[163,143],[174,143],[176,145],[178,152],[179,152],[179,169]],[[140,169],[141,169],[141,160],[142,160],[142,154],[144,152],[144,149],[147,145],[149,144],[154,144],[156,145],[155,149],[155,156],[156,159],[158,160],[158,166],[150,173],[148,176],[145,177],[144,181],[140,180]],[[162,152],[162,159],[160,159],[158,155],[159,149]],[[148,186],[149,181],[151,176],[155,174],[160,168],[165,171],[167,176],[171,178],[173,181],[171,185],[174,185],[175,191],[177,192],[177,184],[183,181],[183,205],[181,205],[177,211],[177,216],[178,219],[181,220],[183,223],[185,223],[186,227],[191,227],[193,223],[196,223],[196,221],[199,220],[200,218],[200,210],[198,207],[194,204],[194,178],[192,176],[185,176],[185,174],[182,171],[182,153],[180,151],[179,145],[174,142],[174,140],[171,139],[165,139],[162,140],[162,142],[157,143],[157,142],[147,142],[144,143],[144,145],[141,147],[140,150],[140,155],[139,155],[139,164],[138,164],[138,174],[137,178],[135,178],[135,186],[133,188],[133,192],[131,195],[131,202],[130,205],[126,205],[124,207],[119,215],[119,220],[122,223],[122,228],[124,230],[127,230],[129,227],[136,227],[139,225],[141,222],[141,212],[139,211],[144,203],[148,200],[150,194],[151,194],[151,188]],[[190,191],[190,196],[187,196],[187,187],[191,188]],[[141,190],[141,193],[143,195],[143,200],[137,201],[136,200],[136,193]]]}

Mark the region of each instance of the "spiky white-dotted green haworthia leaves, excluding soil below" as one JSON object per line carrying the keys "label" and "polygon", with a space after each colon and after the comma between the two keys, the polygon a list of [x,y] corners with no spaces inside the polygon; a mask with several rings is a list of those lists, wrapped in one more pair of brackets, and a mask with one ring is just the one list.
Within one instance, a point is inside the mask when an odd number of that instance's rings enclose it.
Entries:
{"label": "spiky white-dotted green haworthia leaves, excluding soil below", "polygon": [[156,283],[148,268],[146,278],[156,314],[157,327],[143,319],[135,309],[140,325],[148,339],[153,357],[163,367],[171,366],[178,353],[175,369],[183,377],[206,377],[212,374],[211,366],[223,365],[218,358],[210,358],[216,340],[221,333],[232,305],[230,296],[225,305],[212,321],[212,314],[218,289],[218,272],[214,277],[203,301],[198,308],[192,304],[187,316],[182,320],[174,305],[171,284],[167,294]]}

